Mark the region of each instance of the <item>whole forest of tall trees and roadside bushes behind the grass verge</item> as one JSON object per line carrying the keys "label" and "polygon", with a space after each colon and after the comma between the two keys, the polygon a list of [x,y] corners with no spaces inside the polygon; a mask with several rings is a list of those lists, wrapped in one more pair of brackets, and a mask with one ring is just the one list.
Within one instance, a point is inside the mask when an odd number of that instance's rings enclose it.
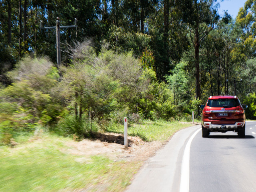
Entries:
{"label": "whole forest of tall trees and roadside bushes behind the grass verge", "polygon": [[[39,126],[83,138],[144,119],[191,121],[236,94],[256,119],[256,2],[0,0],[0,139]],[[61,29],[61,65],[56,31]],[[240,81],[242,79],[242,81]],[[228,82],[227,82],[228,80]],[[236,89],[235,89],[236,88]]]}

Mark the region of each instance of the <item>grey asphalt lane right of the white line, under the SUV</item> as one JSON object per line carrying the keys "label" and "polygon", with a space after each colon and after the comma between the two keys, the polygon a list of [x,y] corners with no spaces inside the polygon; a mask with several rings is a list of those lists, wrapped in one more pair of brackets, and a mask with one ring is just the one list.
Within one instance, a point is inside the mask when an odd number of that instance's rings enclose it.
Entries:
{"label": "grey asphalt lane right of the white line, under the SUV", "polygon": [[234,132],[197,134],[190,147],[190,192],[256,191],[256,122],[246,137]]}

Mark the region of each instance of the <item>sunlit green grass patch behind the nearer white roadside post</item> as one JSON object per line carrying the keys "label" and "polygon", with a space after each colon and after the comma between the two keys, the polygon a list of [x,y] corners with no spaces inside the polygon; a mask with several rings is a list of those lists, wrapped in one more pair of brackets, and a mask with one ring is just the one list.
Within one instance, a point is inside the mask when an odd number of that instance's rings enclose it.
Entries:
{"label": "sunlit green grass patch behind the nearer white roadside post", "polygon": [[[165,141],[170,138],[178,130],[192,126],[193,124],[184,124],[180,122],[166,122],[166,121],[150,121],[145,120],[142,124],[133,124],[128,127],[128,135],[139,136],[144,141]],[[114,124],[107,129],[108,132],[124,133],[124,126]]]}

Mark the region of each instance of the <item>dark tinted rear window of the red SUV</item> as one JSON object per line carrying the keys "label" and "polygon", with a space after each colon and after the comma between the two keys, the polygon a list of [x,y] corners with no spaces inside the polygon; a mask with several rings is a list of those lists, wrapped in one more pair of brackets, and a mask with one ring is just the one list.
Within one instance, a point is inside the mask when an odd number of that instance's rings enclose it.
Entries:
{"label": "dark tinted rear window of the red SUV", "polygon": [[238,99],[209,99],[206,105],[209,107],[231,108],[240,106],[240,103]]}

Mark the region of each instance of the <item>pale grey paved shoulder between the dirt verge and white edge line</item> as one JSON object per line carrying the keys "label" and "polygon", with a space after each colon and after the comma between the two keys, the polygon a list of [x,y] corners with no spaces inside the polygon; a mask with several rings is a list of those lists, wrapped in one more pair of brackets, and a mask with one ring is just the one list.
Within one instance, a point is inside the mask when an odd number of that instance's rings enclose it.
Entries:
{"label": "pale grey paved shoulder between the dirt verge and white edge line", "polygon": [[126,192],[171,192],[179,190],[182,156],[189,138],[200,126],[178,131],[136,174]]}

